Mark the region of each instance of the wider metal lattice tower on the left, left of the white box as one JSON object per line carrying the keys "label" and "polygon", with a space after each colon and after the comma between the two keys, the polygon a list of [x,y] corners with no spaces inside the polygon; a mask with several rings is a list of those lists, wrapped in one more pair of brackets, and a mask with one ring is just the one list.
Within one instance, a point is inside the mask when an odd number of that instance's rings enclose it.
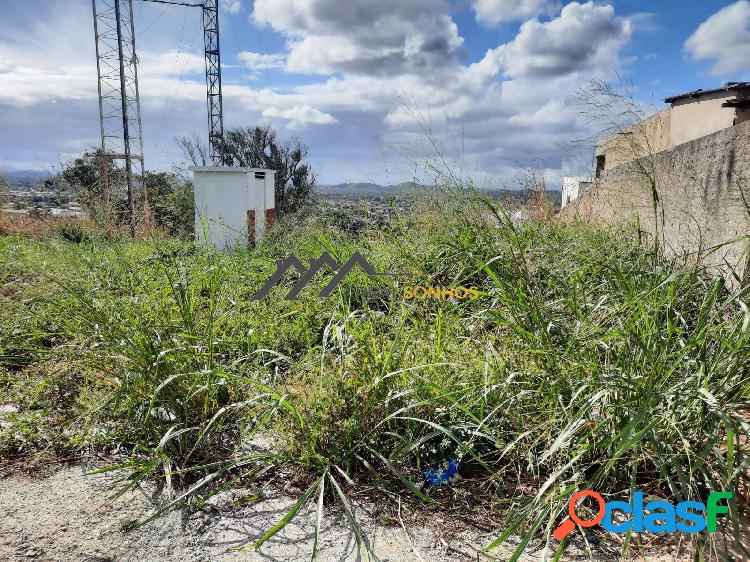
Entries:
{"label": "wider metal lattice tower on the left, left of the white box", "polygon": [[[109,197],[110,161],[125,163],[131,234],[135,235],[135,185],[143,191],[148,222],[148,194],[143,165],[143,130],[138,93],[138,57],[132,0],[92,0],[99,75],[99,118],[104,165],[105,202]],[[108,212],[108,211],[107,211]]]}

